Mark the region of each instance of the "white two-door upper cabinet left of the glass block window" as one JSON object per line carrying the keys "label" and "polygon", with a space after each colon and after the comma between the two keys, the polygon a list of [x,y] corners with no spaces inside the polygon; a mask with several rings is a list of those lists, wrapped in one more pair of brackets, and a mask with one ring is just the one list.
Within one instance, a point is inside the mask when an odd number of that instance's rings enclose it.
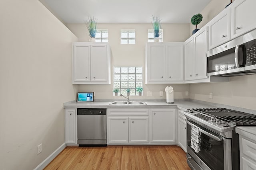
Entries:
{"label": "white two-door upper cabinet left of the glass block window", "polygon": [[110,84],[106,43],[73,43],[73,84]]}

